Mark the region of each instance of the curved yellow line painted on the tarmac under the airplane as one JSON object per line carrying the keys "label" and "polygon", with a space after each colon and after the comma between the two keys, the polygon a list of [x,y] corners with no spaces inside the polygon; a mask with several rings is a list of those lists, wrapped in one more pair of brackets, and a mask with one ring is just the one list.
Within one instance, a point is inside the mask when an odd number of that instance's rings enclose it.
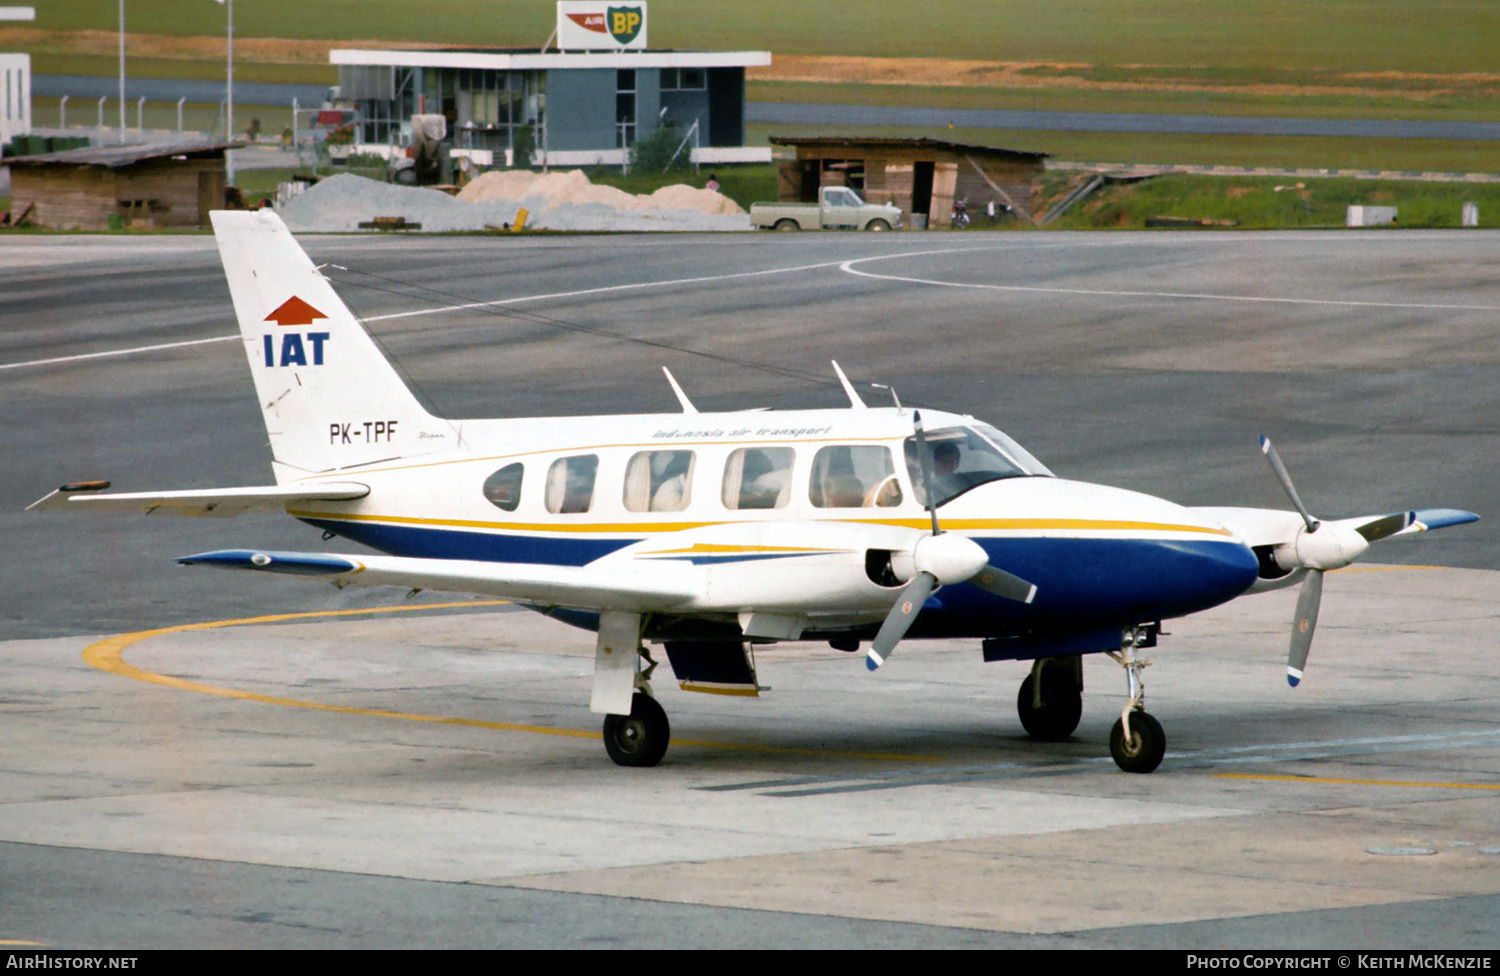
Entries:
{"label": "curved yellow line painted on the tarmac under the airplane", "polygon": [[[280,624],[285,621],[308,621],[316,618],[330,616],[356,616],[368,613],[410,613],[416,610],[450,610],[456,607],[494,607],[508,604],[508,600],[464,600],[459,603],[424,603],[404,607],[369,607],[362,610],[312,610],[304,613],[272,613],[267,616],[244,616],[231,621],[206,621],[201,624],[178,624],[176,627],[159,627],[156,630],[141,630],[132,634],[116,634],[112,637],[105,637],[104,640],[94,642],[84,648],[84,663],[88,667],[108,672],[111,675],[118,675],[122,678],[132,678],[135,681],[144,681],[153,685],[162,685],[166,688],[176,688],[178,691],[195,691],[198,694],[212,694],[220,699],[240,699],[243,702],[256,702],[260,705],[279,705],[282,708],[306,708],[318,712],[338,712],[342,715],[366,715],[369,718],[396,718],[400,721],[420,721],[432,723],[440,726],[465,726],[470,729],[492,729],[496,732],[530,732],[532,735],[548,735],[548,736],[566,736],[572,739],[597,739],[598,732],[584,730],[584,729],[552,729],[548,726],[522,726],[514,723],[498,723],[498,721],[482,721],[478,718],[456,718],[452,715],[423,715],[420,712],[393,712],[387,709],[376,708],[356,708],[351,705],[328,705],[326,702],[308,702],[303,699],[282,699],[270,694],[260,694],[256,691],[244,691],[242,688],[225,688],[222,685],[208,685],[201,681],[188,681],[186,678],[172,678],[171,675],[160,675],[156,672],[148,672],[124,660],[126,648],[141,643],[142,640],[150,640],[153,637],[165,637],[166,634],[180,634],[194,630],[216,630],[220,627],[243,627],[249,624]],[[692,748],[714,748],[714,750],[735,750],[742,753],[774,753],[778,756],[822,756],[831,759],[873,759],[884,762],[916,762],[916,763],[936,763],[944,762],[938,756],[897,756],[888,753],[843,753],[837,750],[804,750],[804,748],[788,748],[776,745],[747,745],[738,742],[708,742],[696,739],[672,739],[672,745],[676,747],[692,747]]]}

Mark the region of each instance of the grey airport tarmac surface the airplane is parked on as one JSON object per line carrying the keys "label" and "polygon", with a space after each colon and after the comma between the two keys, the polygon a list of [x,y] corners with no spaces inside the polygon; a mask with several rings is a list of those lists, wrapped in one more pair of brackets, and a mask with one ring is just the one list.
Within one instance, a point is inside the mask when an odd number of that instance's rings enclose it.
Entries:
{"label": "grey airport tarmac surface the airplane is parked on", "polygon": [[[1284,507],[1266,430],[1318,514],[1500,511],[1494,234],[304,244],[448,415],[670,411],[660,364],[704,409],[837,405],[836,357],[1065,477]],[[508,304],[429,312],[474,301]],[[1026,667],[946,642],[768,651],[760,700],[663,669],[674,745],[627,771],[582,631],[171,564],[322,546],[290,520],[20,513],[267,478],[212,240],[0,238],[0,940],[1500,945],[1492,519],[1330,574],[1298,690],[1294,594],[1170,622],[1149,777],[1108,759],[1113,663],[1038,745]],[[172,630],[264,615],[312,616]]]}

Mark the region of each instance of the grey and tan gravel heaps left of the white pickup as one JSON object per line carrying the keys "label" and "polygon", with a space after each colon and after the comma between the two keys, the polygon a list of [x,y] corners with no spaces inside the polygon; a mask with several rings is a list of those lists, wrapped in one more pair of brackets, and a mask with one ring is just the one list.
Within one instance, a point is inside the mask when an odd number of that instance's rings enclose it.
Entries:
{"label": "grey and tan gravel heaps left of the white pickup", "polygon": [[[543,177],[543,181],[518,177]],[[717,213],[705,213],[712,201],[699,199],[700,193],[711,193],[738,213],[724,213],[722,205]],[[642,201],[654,204],[646,207]],[[513,223],[520,208],[530,211],[528,228],[550,231],[750,229],[750,217],[712,190],[669,186],[651,196],[633,196],[594,186],[582,172],[484,174],[456,198],[345,172],[309,187],[288,202],[280,216],[292,231],[357,231],[362,222],[375,217],[405,217],[408,223],[420,223],[423,231],[482,231],[486,225]]]}

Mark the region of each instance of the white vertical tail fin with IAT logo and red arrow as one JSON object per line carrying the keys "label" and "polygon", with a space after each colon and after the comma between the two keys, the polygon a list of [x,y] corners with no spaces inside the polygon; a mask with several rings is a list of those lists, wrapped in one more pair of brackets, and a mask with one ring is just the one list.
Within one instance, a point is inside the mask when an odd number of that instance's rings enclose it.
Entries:
{"label": "white vertical tail fin with IAT logo and red arrow", "polygon": [[278,481],[458,445],[268,210],[213,211]]}

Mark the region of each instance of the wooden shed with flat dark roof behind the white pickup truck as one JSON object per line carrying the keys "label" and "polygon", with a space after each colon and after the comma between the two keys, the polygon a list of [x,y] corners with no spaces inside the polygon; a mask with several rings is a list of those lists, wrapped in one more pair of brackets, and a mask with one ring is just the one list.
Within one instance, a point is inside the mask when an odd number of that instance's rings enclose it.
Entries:
{"label": "wooden shed with flat dark roof behind the white pickup truck", "polygon": [[1010,210],[1029,220],[1032,186],[1047,159],[1047,153],[927,138],[771,136],[771,142],[796,150],[777,172],[782,202],[812,202],[824,186],[849,186],[870,202],[900,207],[908,217],[921,214],[928,226],[950,223],[954,199],[968,204],[976,223],[992,201],[998,214]]}

